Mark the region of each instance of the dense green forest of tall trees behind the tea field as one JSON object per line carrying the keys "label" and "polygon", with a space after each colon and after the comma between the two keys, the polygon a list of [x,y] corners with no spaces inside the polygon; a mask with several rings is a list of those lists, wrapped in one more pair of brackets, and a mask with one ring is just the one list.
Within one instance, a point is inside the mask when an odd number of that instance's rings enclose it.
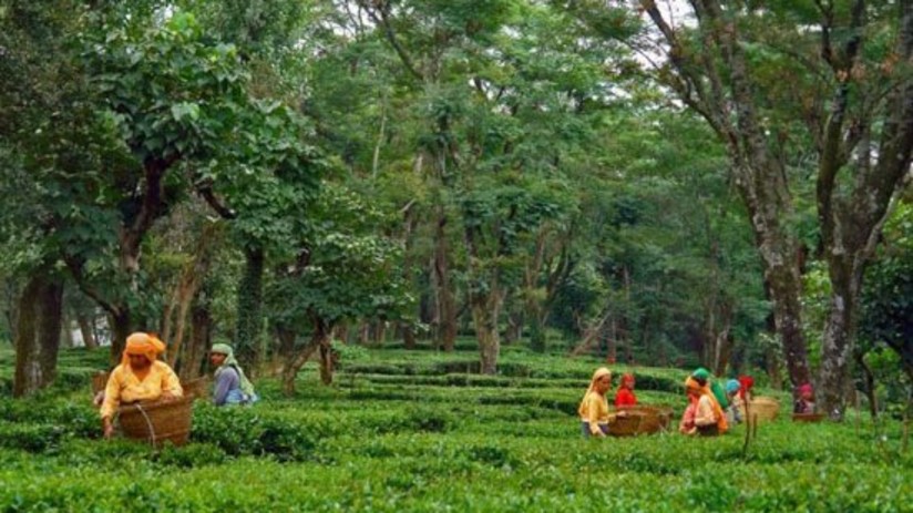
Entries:
{"label": "dense green forest of tall trees behind the tea field", "polygon": [[913,2],[681,7],[4,0],[11,393],[469,335],[909,410]]}

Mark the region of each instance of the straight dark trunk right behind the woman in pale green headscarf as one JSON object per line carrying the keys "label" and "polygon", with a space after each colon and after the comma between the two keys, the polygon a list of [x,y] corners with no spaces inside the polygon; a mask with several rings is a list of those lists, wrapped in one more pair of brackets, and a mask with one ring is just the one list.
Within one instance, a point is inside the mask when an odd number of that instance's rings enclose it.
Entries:
{"label": "straight dark trunk right behind the woman in pale green headscarf", "polygon": [[244,249],[244,276],[238,285],[235,351],[245,370],[256,372],[260,363],[259,336],[263,327],[263,275],[266,255],[259,246]]}

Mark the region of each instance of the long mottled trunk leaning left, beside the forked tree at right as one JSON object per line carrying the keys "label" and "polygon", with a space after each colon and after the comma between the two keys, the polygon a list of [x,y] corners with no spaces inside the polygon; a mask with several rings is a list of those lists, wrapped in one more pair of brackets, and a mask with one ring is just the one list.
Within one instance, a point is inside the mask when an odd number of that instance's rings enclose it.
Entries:
{"label": "long mottled trunk leaning left, beside the forked tree at right", "polygon": [[[727,145],[732,175],[748,208],[755,245],[761,256],[765,279],[773,301],[777,332],[793,384],[809,380],[806,340],[801,331],[802,291],[798,243],[787,226],[792,199],[786,182],[783,158],[757,112],[755,82],[749,75],[739,27],[718,1],[691,2],[698,20],[701,48],[684,48],[680,34],[664,19],[653,0],[640,0],[669,44],[675,73],[668,83],[698,112]],[[725,66],[719,64],[724,63]]]}

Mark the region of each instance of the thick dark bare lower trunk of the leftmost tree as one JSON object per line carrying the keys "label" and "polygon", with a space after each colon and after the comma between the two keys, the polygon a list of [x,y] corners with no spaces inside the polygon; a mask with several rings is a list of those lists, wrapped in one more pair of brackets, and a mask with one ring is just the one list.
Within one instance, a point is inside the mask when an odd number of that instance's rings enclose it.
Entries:
{"label": "thick dark bare lower trunk of the leftmost tree", "polygon": [[63,304],[63,281],[48,267],[37,269],[18,301],[13,397],[54,380]]}

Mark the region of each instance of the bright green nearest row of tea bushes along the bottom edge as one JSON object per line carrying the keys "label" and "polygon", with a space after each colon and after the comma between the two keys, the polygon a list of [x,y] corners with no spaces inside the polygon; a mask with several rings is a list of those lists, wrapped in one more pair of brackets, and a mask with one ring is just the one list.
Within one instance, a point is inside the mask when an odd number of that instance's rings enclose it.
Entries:
{"label": "bright green nearest row of tea bushes along the bottom edge", "polygon": [[[206,455],[211,445],[196,443],[143,458],[120,443],[81,442],[74,452],[94,444],[107,461],[0,451],[0,505],[139,512],[888,512],[911,504],[909,458],[885,461],[843,425],[792,438],[789,431],[773,424],[753,447],[763,455],[747,459],[738,438],[593,443],[484,433],[349,433],[315,447],[327,458],[297,462],[213,459]],[[796,442],[803,449],[790,449]]]}

